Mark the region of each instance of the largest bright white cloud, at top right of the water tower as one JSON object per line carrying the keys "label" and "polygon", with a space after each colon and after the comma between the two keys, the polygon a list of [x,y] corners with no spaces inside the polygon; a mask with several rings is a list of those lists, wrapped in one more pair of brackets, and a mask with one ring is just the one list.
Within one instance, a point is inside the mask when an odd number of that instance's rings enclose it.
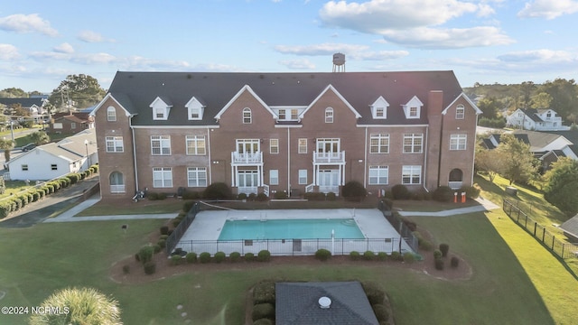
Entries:
{"label": "largest bright white cloud, at top right of the water tower", "polygon": [[[464,14],[495,14],[489,2],[457,0],[371,0],[362,4],[331,1],[320,11],[328,26],[382,35],[387,42],[427,49],[450,49],[512,43],[496,27],[442,28]],[[493,1],[499,3],[499,1]]]}

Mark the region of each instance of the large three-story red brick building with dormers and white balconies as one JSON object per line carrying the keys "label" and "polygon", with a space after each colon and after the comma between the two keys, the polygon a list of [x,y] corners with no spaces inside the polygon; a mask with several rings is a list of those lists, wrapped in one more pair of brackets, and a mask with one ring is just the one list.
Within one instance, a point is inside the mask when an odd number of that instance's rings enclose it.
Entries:
{"label": "large three-story red brick building with dormers and white balconies", "polygon": [[247,194],[460,188],[480,113],[452,71],[117,72],[92,115],[110,199],[214,182]]}

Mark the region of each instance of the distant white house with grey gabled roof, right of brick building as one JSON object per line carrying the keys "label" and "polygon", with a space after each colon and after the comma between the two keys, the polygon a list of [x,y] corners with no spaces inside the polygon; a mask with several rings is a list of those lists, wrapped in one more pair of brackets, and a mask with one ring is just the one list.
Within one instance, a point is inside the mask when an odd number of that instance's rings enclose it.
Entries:
{"label": "distant white house with grey gabled roof, right of brick building", "polygon": [[514,113],[506,116],[506,125],[532,131],[569,129],[567,126],[562,125],[562,117],[549,108],[518,108]]}

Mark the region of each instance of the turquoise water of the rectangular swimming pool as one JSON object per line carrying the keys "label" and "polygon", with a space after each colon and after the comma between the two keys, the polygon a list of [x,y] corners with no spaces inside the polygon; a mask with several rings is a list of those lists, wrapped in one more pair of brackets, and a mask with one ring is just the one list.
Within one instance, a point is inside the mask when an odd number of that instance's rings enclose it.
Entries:
{"label": "turquoise water of the rectangular swimming pool", "polygon": [[354,219],[227,220],[219,240],[365,238]]}

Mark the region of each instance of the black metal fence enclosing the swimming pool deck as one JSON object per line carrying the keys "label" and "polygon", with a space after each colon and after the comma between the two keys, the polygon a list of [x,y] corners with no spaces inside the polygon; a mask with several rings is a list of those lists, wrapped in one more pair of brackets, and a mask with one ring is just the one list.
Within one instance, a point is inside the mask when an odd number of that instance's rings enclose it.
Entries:
{"label": "black metal fence enclosing the swimming pool deck", "polygon": [[167,255],[171,255],[175,248],[185,252],[200,254],[209,252],[224,252],[229,255],[238,252],[241,255],[252,253],[257,255],[261,250],[268,250],[271,255],[314,255],[319,249],[327,249],[331,255],[349,255],[352,251],[363,253],[399,252],[404,254],[409,251],[418,253],[417,238],[404,222],[391,213],[387,205],[379,202],[378,209],[382,211],[387,221],[396,228],[401,237],[394,238],[317,238],[317,239],[247,239],[247,240],[185,240],[181,238],[191,226],[192,221],[200,211],[200,204],[195,203],[181,223],[172,231],[166,241]]}

